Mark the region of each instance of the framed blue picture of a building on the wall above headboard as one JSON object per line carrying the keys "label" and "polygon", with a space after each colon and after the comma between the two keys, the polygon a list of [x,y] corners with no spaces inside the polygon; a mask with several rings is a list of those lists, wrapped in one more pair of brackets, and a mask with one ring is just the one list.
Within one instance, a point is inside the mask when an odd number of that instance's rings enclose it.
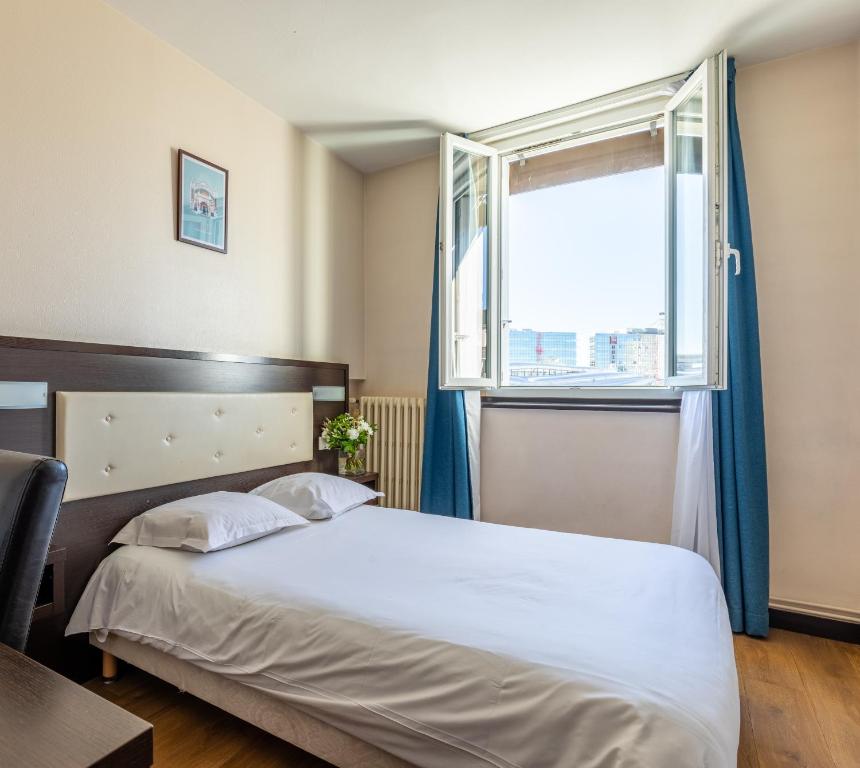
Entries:
{"label": "framed blue picture of a building on the wall above headboard", "polygon": [[227,170],[179,150],[176,239],[227,253]]}

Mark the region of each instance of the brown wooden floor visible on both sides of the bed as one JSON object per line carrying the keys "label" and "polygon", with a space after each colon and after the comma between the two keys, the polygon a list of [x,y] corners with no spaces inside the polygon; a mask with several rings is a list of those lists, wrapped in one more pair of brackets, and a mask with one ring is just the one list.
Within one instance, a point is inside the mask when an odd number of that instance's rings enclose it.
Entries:
{"label": "brown wooden floor visible on both sides of the bed", "polygon": [[[773,630],[735,638],[739,768],[860,768],[860,646]],[[156,768],[327,768],[143,672],[87,687],[155,726]]]}

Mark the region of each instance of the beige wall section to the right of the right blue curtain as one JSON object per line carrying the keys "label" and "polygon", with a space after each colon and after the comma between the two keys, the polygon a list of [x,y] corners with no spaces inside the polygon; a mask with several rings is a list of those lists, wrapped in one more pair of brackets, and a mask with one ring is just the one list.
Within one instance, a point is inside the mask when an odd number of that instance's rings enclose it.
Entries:
{"label": "beige wall section to the right of the right blue curtain", "polygon": [[860,619],[860,43],[741,70],[737,95],[759,294],[771,595]]}

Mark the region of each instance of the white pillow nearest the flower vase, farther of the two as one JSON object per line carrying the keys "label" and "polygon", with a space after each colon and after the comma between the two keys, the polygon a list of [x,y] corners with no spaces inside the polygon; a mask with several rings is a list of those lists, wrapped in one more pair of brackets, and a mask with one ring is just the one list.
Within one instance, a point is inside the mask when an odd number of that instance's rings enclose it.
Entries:
{"label": "white pillow nearest the flower vase, farther of the two", "polygon": [[283,504],[308,520],[325,520],[384,496],[338,475],[300,472],[255,488],[251,493]]}

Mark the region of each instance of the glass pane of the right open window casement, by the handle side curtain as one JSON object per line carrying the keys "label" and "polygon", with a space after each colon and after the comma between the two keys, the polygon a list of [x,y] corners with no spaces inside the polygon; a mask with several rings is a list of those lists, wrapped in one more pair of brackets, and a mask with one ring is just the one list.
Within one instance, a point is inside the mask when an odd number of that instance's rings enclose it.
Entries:
{"label": "glass pane of the right open window casement, by the handle side curtain", "polygon": [[701,376],[705,363],[707,222],[701,86],[672,113],[675,129],[675,374]]}

